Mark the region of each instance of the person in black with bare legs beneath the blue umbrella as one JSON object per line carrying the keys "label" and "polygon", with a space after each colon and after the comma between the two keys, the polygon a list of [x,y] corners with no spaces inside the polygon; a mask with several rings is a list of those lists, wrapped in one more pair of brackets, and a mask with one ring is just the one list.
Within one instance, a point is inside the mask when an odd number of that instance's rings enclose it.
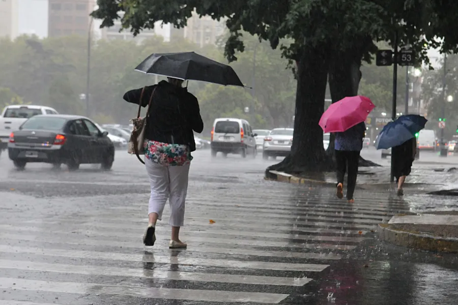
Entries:
{"label": "person in black with bare legs beneath the blue umbrella", "polygon": [[417,138],[413,137],[403,144],[391,148],[391,158],[393,158],[393,173],[396,177],[397,195],[404,195],[404,182],[412,171],[412,163],[417,154]]}

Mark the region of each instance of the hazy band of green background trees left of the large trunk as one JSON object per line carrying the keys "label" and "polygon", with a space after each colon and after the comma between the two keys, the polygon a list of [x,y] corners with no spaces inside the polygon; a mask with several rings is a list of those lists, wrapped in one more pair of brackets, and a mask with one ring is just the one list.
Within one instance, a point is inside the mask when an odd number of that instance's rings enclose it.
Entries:
{"label": "hazy band of green background trees left of the large trunk", "polygon": [[[247,118],[256,128],[290,124],[296,86],[291,72],[285,70],[286,61],[281,59],[280,51],[272,50],[267,43],[250,35],[245,39],[249,49],[232,66],[242,81],[255,90],[196,81],[188,84],[188,90],[199,99],[208,131],[213,120],[221,116]],[[28,40],[0,40],[0,83],[5,86],[0,89],[0,106],[17,96],[26,103],[50,106],[60,113],[85,114],[86,102],[80,95],[86,94],[87,40],[79,36],[32,38],[32,46]],[[122,99],[124,93],[164,79],[133,69],[151,53],[176,51],[196,51],[226,61],[223,47],[199,48],[184,39],[164,42],[161,37],[153,37],[141,44],[124,40],[92,42],[91,117],[101,123],[128,124],[135,115],[135,106]],[[248,114],[244,107],[250,108]]]}

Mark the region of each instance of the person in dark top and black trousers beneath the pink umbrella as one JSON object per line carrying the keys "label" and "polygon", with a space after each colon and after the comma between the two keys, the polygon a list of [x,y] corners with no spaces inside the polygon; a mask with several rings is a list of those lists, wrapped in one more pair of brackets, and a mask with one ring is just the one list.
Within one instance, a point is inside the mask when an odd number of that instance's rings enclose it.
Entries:
{"label": "person in dark top and black trousers beneath the pink umbrella", "polygon": [[363,146],[366,133],[366,125],[361,122],[344,132],[336,132],[334,140],[336,174],[337,174],[337,197],[344,198],[344,177],[348,169],[347,177],[347,201],[355,202],[353,193],[358,176],[359,155]]}

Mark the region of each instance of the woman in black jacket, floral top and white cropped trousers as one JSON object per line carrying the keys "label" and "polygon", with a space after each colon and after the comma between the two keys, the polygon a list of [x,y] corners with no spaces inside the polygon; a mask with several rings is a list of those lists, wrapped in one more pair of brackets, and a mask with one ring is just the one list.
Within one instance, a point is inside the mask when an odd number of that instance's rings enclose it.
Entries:
{"label": "woman in black jacket, floral top and white cropped trousers", "polygon": [[193,131],[201,133],[204,123],[197,99],[182,83],[181,79],[167,78],[157,85],[130,90],[124,95],[127,102],[146,107],[154,92],[145,131],[145,167],[151,185],[148,227],[143,237],[145,246],[154,246],[156,222],[162,219],[168,199],[169,248],[187,247],[179,233],[184,223],[191,151],[195,150]]}

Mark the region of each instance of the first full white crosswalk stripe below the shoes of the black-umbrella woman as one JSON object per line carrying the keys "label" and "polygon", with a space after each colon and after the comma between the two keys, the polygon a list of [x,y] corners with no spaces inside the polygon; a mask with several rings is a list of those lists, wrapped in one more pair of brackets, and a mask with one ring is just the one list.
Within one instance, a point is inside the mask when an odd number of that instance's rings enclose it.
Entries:
{"label": "first full white crosswalk stripe below the shoes of the black-umbrella woman", "polygon": [[263,261],[241,261],[230,259],[202,259],[186,258],[177,256],[160,256],[153,254],[124,254],[100,251],[68,251],[61,249],[40,249],[33,247],[17,247],[0,245],[0,252],[6,253],[29,253],[46,256],[62,256],[70,258],[98,258],[107,260],[134,261],[134,262],[151,262],[161,264],[179,264],[179,265],[200,265],[225,268],[246,268],[246,269],[263,269],[263,270],[296,270],[296,271],[323,271],[329,265],[324,264],[302,264],[302,263],[278,263]]}

